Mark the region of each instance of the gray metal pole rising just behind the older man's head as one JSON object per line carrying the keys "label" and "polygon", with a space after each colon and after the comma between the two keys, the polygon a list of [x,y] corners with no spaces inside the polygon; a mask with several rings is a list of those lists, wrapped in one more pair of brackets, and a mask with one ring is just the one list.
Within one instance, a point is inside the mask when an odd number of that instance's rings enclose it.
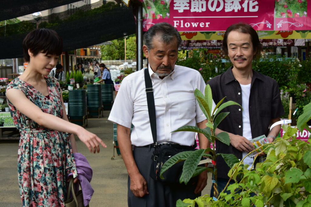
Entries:
{"label": "gray metal pole rising just behind the older man's head", "polygon": [[142,70],[143,60],[142,60],[142,5],[138,6],[138,15],[137,15],[137,70]]}

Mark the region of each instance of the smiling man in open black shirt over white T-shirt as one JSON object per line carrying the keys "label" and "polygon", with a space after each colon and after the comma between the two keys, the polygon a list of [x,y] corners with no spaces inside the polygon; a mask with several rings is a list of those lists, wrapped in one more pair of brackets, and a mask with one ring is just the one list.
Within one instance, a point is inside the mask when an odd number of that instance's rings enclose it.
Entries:
{"label": "smiling man in open black shirt over white T-shirt", "polygon": [[[228,132],[230,146],[216,141],[216,153],[234,154],[241,160],[253,150],[250,139],[263,134],[269,142],[275,139],[281,125],[273,127],[271,131],[269,126],[280,120],[284,110],[276,81],[252,70],[252,61],[260,56],[262,48],[257,32],[250,25],[231,25],[225,32],[222,47],[233,66],[208,81],[213,100],[218,103],[226,97],[225,101],[235,101],[243,110],[234,105],[222,111],[229,111],[230,114],[218,125],[216,134]],[[221,156],[217,157],[216,163],[218,191],[221,192],[229,181],[227,174],[230,168]],[[245,158],[244,164],[249,164],[250,169],[253,158]]]}

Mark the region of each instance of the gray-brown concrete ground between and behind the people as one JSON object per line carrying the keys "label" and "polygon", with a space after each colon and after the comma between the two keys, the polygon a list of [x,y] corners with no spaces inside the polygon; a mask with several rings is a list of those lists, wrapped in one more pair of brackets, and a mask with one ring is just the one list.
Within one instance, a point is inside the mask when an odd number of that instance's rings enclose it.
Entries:
{"label": "gray-brown concrete ground between and behind the people", "polygon": [[[128,174],[121,156],[111,160],[113,155],[113,124],[109,122],[110,111],[104,111],[104,117],[89,118],[87,130],[99,136],[107,145],[99,154],[92,154],[87,147],[77,140],[78,151],[86,156],[93,168],[91,185],[95,190],[90,206],[127,206]],[[18,140],[0,140],[0,207],[21,206],[17,180]],[[202,195],[209,194],[211,174]]]}

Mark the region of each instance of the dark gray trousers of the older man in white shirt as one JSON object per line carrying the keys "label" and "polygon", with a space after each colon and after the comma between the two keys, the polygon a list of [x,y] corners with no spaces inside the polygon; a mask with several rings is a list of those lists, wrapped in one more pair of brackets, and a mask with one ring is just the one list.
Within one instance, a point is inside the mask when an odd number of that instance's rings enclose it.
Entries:
{"label": "dark gray trousers of the older man in white shirt", "polygon": [[188,185],[183,184],[163,184],[153,180],[150,175],[151,155],[154,148],[134,147],[133,155],[139,172],[146,179],[148,195],[142,198],[134,196],[130,190],[130,178],[128,178],[128,206],[129,207],[173,207],[178,199],[195,199],[200,194],[195,194],[197,178],[190,180]]}

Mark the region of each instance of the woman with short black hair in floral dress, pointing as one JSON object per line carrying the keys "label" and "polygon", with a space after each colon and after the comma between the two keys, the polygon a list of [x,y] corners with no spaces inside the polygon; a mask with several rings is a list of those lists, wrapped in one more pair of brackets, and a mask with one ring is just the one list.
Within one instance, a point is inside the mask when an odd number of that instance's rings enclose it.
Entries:
{"label": "woman with short black hair in floral dress, pointing", "polygon": [[68,122],[58,80],[49,76],[63,42],[50,29],[35,29],[23,41],[23,74],[7,86],[7,102],[21,138],[18,180],[23,206],[64,206],[66,176],[77,169],[76,134],[91,152],[106,147],[95,134]]}

